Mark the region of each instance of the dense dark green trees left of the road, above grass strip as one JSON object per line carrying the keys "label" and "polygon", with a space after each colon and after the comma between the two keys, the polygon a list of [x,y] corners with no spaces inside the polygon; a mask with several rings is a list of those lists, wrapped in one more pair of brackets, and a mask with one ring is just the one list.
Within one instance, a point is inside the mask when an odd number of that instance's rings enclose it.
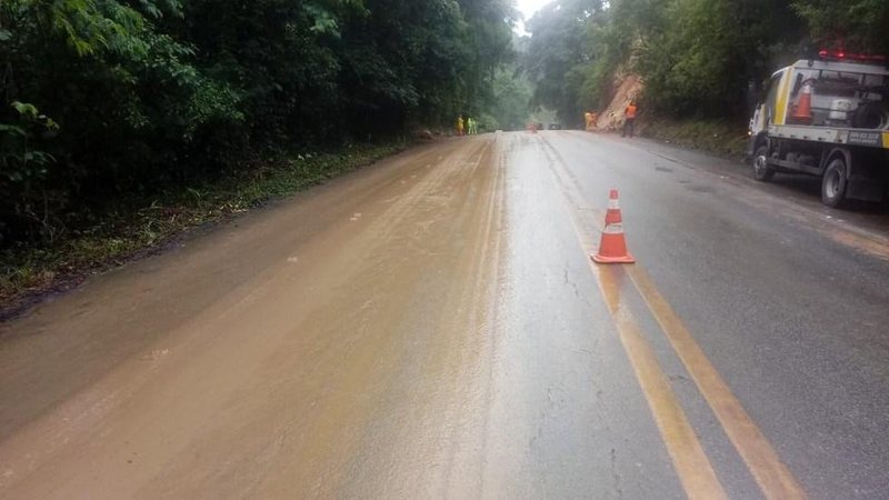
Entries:
{"label": "dense dark green trees left of the road, above grass strip", "polygon": [[507,0],[2,0],[0,246],[282,151],[493,114],[516,17]]}

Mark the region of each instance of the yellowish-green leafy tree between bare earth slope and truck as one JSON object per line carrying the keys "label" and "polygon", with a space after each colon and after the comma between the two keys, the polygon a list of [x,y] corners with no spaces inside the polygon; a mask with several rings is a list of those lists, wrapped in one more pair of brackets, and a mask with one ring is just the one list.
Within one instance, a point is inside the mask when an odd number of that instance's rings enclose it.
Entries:
{"label": "yellowish-green leafy tree between bare earth slope and truck", "polygon": [[771,0],[667,4],[662,29],[649,29],[635,52],[647,106],[675,117],[745,114],[748,83],[771,70],[776,47],[800,36],[798,23],[781,21],[788,14]]}

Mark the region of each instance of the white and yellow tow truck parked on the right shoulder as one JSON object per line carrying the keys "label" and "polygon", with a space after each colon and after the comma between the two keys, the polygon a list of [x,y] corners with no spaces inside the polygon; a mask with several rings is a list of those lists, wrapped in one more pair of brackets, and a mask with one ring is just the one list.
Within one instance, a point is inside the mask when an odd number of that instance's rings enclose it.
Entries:
{"label": "white and yellow tow truck parked on the right shoulder", "polygon": [[821,50],[776,71],[750,119],[753,176],[821,178],[821,201],[889,196],[889,67],[886,57]]}

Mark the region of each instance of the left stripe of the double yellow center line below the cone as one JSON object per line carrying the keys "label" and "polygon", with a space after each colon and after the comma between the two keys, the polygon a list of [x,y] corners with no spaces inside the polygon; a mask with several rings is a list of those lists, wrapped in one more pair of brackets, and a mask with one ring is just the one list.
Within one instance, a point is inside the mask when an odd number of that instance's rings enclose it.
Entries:
{"label": "left stripe of the double yellow center line below the cone", "polygon": [[690,499],[728,498],[695,430],[679,406],[655,351],[629,310],[621,306],[620,286],[625,276],[623,270],[608,267],[600,271],[592,263],[591,268],[599,278],[597,281],[617,326],[620,342],[632,364],[686,494]]}

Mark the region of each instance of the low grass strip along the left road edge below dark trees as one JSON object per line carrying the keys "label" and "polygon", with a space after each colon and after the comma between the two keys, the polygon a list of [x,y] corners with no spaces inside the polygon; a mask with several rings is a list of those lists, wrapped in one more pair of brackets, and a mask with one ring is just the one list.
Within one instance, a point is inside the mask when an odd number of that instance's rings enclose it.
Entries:
{"label": "low grass strip along the left road edge below dark trees", "polygon": [[0,319],[24,298],[91,270],[118,266],[161,248],[181,232],[220,221],[262,203],[323,183],[406,148],[356,146],[339,152],[296,154],[248,174],[168,191],[102,216],[52,244],[0,250]]}

